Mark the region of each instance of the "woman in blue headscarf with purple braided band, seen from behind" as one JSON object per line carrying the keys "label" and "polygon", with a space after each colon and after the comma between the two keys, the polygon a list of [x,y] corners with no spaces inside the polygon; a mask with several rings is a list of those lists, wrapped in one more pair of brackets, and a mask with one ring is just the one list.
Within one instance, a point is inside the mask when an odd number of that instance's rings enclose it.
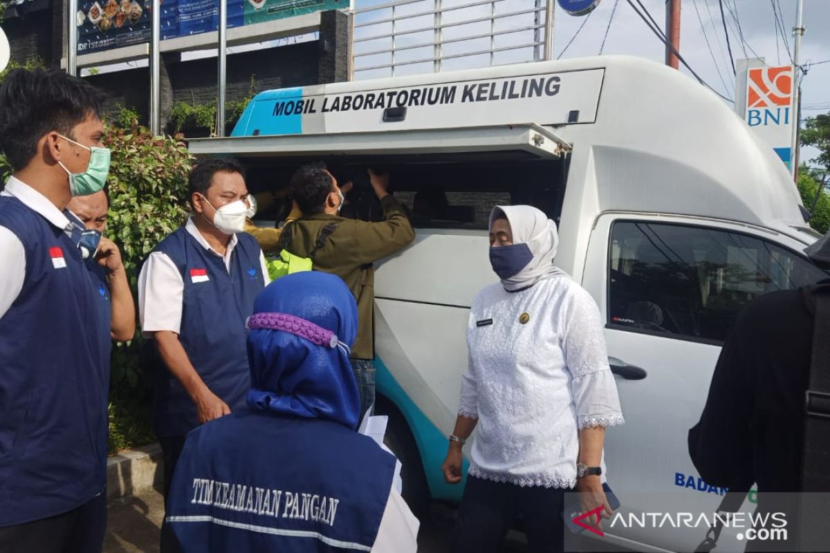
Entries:
{"label": "woman in blue headscarf with purple braided band, seen from behind", "polygon": [[183,551],[416,551],[395,458],[355,431],[349,289],[287,275],[247,325],[249,409],[188,434],[173,476],[166,521]]}

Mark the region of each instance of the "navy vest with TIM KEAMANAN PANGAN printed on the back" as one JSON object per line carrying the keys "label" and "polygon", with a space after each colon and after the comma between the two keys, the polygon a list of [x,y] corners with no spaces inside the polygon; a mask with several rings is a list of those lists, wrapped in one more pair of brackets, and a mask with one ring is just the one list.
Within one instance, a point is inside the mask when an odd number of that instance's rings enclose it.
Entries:
{"label": "navy vest with TIM KEAMANAN PANGAN printed on the back", "polygon": [[252,413],[188,435],[167,504],[183,551],[369,551],[395,458],[328,420]]}

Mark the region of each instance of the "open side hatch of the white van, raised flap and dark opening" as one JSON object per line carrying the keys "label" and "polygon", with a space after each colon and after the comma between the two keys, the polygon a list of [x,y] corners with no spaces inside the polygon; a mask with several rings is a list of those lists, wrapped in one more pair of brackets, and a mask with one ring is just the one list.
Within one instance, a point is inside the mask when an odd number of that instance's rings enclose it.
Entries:
{"label": "open side hatch of the white van, raised flap and dark opening", "polygon": [[372,167],[391,175],[391,190],[408,207],[414,226],[457,229],[486,229],[498,204],[535,205],[558,221],[571,150],[538,124],[198,138],[189,148],[194,155],[237,158],[251,192],[276,196],[273,206],[257,214],[261,225],[287,216],[295,169],[322,160],[341,186],[354,182],[345,216],[379,220],[365,179]]}

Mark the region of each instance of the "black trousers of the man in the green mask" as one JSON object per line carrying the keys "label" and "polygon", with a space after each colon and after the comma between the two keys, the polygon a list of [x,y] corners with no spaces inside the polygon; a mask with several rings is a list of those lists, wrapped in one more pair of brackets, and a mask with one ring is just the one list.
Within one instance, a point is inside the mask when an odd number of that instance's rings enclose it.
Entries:
{"label": "black trousers of the man in the green mask", "polygon": [[106,492],[69,512],[0,528],[0,553],[100,553]]}

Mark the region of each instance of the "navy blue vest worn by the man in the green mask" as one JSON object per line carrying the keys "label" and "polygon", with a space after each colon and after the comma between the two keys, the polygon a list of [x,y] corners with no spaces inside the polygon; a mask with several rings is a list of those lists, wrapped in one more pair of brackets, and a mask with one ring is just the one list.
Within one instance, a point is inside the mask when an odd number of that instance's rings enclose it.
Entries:
{"label": "navy blue vest worn by the man in the green mask", "polygon": [[0,526],[8,526],[70,511],[105,487],[110,315],[63,230],[8,196],[0,225],[26,252],[22,290],[0,318]]}

